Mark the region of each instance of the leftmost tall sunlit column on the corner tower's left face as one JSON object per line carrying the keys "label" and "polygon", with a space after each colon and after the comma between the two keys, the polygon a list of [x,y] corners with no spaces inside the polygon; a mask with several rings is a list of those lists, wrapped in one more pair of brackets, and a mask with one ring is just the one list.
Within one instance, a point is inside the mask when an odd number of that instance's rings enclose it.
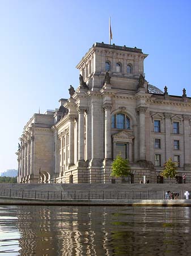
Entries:
{"label": "leftmost tall sunlit column on the corner tower's left face", "polygon": [[74,164],[74,117],[69,116],[69,165]]}

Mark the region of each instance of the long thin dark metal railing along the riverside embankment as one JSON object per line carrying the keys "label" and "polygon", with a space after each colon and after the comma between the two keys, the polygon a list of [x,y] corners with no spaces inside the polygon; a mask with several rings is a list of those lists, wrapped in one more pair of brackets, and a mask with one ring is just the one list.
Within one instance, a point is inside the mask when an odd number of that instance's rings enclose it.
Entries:
{"label": "long thin dark metal railing along the riverside embankment", "polygon": [[[183,191],[176,193],[183,199]],[[163,200],[164,196],[164,191],[0,191],[0,197],[43,200]]]}

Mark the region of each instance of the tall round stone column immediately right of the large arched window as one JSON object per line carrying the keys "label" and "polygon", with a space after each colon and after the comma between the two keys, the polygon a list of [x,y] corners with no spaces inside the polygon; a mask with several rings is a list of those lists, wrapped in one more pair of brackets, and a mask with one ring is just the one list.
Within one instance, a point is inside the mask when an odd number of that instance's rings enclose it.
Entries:
{"label": "tall round stone column immediately right of the large arched window", "polygon": [[146,146],[145,146],[145,112],[147,108],[141,106],[137,108],[139,112],[139,159],[146,159]]}

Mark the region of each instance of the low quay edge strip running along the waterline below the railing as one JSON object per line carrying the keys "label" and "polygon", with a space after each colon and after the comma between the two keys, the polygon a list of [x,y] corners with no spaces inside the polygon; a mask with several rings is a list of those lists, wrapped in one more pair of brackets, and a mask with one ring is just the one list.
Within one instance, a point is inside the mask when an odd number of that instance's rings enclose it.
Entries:
{"label": "low quay edge strip running along the waterline below the railing", "polygon": [[0,205],[191,207],[191,200],[43,200],[43,199],[11,199],[7,197],[0,197]]}

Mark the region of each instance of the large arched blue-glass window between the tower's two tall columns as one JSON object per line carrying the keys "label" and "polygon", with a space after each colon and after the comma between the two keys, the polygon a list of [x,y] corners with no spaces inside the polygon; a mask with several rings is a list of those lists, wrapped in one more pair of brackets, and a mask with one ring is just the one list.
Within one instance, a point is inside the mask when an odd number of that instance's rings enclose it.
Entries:
{"label": "large arched blue-glass window between the tower's two tall columns", "polygon": [[125,114],[112,115],[112,128],[130,129],[130,119]]}

